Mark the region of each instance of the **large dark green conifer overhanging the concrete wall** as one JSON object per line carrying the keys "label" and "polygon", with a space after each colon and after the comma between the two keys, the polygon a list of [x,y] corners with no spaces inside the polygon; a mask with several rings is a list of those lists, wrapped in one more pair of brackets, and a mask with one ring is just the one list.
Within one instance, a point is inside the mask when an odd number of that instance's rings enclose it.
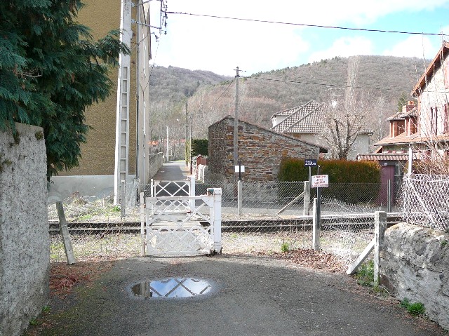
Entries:
{"label": "large dark green conifer overhanging the concrete wall", "polygon": [[76,21],[81,0],[0,1],[0,129],[43,127],[47,175],[79,164],[85,112],[105,100],[107,74],[129,49],[112,31],[94,41]]}

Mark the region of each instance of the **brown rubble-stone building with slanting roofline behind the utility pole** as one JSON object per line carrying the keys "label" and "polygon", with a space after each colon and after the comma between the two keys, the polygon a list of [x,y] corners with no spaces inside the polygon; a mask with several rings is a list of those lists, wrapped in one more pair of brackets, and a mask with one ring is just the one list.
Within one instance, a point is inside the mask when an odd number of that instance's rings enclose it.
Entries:
{"label": "brown rubble-stone building with slanting roofline behind the utility pole", "polygon": [[[234,118],[209,126],[209,180],[234,180]],[[239,120],[238,157],[245,181],[276,180],[283,158],[318,159],[326,147]]]}

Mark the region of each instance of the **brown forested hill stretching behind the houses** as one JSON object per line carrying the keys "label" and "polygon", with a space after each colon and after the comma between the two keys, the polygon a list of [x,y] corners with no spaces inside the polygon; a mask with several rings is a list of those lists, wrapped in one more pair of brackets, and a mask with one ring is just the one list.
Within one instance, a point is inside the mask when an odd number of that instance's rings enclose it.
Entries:
{"label": "brown forested hill stretching behind the houses", "polygon": [[[416,58],[358,56],[356,88],[373,100],[373,129],[394,114],[401,96],[406,99],[424,72]],[[344,94],[349,58],[333,58],[298,67],[260,72],[239,80],[240,118],[271,127],[274,112],[295,107],[311,99],[319,102]],[[160,137],[167,124],[180,123],[185,132],[184,102],[194,118],[194,137],[207,137],[207,127],[223,116],[234,114],[234,78],[213,72],[177,67],[154,67],[150,81],[153,137]],[[173,126],[175,128],[175,126]],[[384,133],[384,132],[383,132]],[[384,134],[378,134],[382,137]]]}

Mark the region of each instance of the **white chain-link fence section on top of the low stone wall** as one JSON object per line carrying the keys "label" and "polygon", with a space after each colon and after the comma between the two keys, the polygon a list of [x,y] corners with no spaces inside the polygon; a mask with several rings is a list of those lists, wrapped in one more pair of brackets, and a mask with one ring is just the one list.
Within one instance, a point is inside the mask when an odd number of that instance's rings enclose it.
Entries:
{"label": "white chain-link fence section on top of the low stone wall", "polygon": [[418,174],[404,176],[401,212],[406,222],[448,230],[449,177]]}

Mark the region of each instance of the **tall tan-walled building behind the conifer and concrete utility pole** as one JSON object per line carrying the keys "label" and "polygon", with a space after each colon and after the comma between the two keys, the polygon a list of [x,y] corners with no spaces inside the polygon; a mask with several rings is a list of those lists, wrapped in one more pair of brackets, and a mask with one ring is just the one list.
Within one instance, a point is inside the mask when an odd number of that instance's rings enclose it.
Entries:
{"label": "tall tan-walled building behind the conifer and concrete utility pole", "polygon": [[[85,0],[85,6],[81,8],[77,20],[87,27],[91,28],[94,39],[105,36],[109,31],[120,28],[121,24],[121,2],[107,0]],[[139,1],[135,1],[139,2]],[[140,0],[140,2],[142,2]],[[131,6],[130,1],[124,1],[127,6]],[[139,6],[142,6],[140,4]],[[145,4],[145,6],[147,6]],[[145,12],[145,13],[144,13]],[[132,18],[136,19],[136,6],[133,6]],[[140,18],[137,21],[147,22],[146,11],[140,11]],[[99,20],[101,18],[101,20]],[[131,38],[131,59],[129,71],[130,90],[129,97],[129,117],[123,118],[121,125],[128,121],[128,146],[126,152],[128,156],[128,165],[124,164],[123,154],[120,156],[120,173],[126,172],[128,180],[135,177],[140,178],[140,184],[149,180],[148,154],[149,146],[147,145],[148,130],[145,131],[145,120],[149,120],[149,90],[147,88],[149,72],[142,69],[148,68],[148,60],[151,58],[150,39],[142,26],[137,32],[138,25],[133,24],[133,34]],[[139,35],[140,34],[140,35]],[[142,36],[144,36],[142,38]],[[136,38],[140,36],[140,43]],[[136,57],[136,45],[140,50],[140,57]],[[139,62],[140,76],[136,79],[136,67]],[[112,83],[118,83],[118,67],[111,69],[109,78]],[[138,82],[138,83],[137,83]],[[142,87],[140,90],[140,99],[136,100],[136,86]],[[117,86],[116,86],[117,87]],[[123,95],[121,95],[123,96]],[[116,166],[116,114],[118,105],[117,89],[115,88],[104,102],[98,102],[86,109],[86,123],[91,126],[86,143],[81,145],[81,158],[79,166],[69,171],[62,171],[58,176],[51,178],[50,195],[54,199],[65,199],[74,192],[81,195],[105,196],[114,192],[114,168]],[[137,106],[139,104],[139,107]],[[125,127],[126,128],[126,127]],[[120,139],[126,138],[124,132],[120,134]],[[140,145],[137,145],[137,144]],[[121,144],[122,145],[122,144]],[[121,146],[121,148],[124,146]],[[118,155],[117,155],[118,156]]]}

